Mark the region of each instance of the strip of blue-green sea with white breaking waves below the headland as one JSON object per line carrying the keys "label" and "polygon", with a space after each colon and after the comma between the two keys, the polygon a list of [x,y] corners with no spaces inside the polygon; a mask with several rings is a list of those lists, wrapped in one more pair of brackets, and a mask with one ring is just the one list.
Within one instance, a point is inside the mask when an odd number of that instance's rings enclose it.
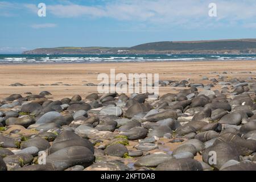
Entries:
{"label": "strip of blue-green sea with white breaking waves below the headland", "polygon": [[0,64],[256,60],[256,55],[0,55]]}

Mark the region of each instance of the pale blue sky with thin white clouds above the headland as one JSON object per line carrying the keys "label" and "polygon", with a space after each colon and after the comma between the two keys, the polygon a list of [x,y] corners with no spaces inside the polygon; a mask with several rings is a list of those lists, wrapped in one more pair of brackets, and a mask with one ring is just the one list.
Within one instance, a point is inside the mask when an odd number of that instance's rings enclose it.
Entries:
{"label": "pale blue sky with thin white clouds above the headland", "polygon": [[0,53],[242,38],[256,38],[255,0],[0,0]]}

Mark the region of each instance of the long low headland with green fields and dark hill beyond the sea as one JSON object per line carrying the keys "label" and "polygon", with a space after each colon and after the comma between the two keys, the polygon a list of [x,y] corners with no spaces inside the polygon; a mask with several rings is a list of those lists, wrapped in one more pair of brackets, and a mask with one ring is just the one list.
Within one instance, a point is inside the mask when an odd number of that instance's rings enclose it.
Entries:
{"label": "long low headland with green fields and dark hill beyond the sea", "polygon": [[79,54],[246,54],[256,53],[256,39],[154,42],[134,47],[55,47],[24,51],[26,55]]}

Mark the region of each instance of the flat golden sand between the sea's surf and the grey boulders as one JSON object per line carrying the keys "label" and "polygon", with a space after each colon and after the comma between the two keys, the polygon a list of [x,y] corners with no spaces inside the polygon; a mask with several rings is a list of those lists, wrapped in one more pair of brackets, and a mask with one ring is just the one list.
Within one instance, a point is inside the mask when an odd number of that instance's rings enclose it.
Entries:
{"label": "flat golden sand between the sea's surf and the grey boulders", "polygon": [[[158,62],[158,63],[96,63],[96,64],[34,64],[34,65],[0,65],[0,100],[13,93],[23,94],[32,92],[39,94],[48,90],[54,99],[72,97],[80,94],[85,97],[89,93],[97,92],[97,86],[82,86],[92,82],[98,84],[98,73],[159,73],[160,80],[184,80],[190,82],[208,83],[201,80],[203,76],[218,77],[228,72],[229,77],[255,77],[256,61],[193,61],[193,62]],[[249,73],[251,72],[251,73]],[[26,86],[9,86],[20,82]],[[72,86],[57,85],[56,82]],[[40,86],[40,84],[49,84]],[[160,94],[175,93],[176,89],[160,87]],[[23,94],[24,95],[24,94]]]}

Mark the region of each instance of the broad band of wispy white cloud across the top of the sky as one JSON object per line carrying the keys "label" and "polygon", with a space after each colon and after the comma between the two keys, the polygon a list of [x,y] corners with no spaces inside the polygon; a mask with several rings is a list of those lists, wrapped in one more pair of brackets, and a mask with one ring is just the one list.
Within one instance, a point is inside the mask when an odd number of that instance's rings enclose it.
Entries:
{"label": "broad band of wispy white cloud across the top of the sky", "polygon": [[[208,16],[209,3],[216,3],[217,17]],[[59,18],[111,18],[120,21],[158,24],[160,26],[242,26],[256,22],[255,0],[113,0],[101,5],[77,5],[71,1],[57,1],[47,5],[47,16]],[[0,2],[0,9],[11,3]],[[37,14],[35,4],[22,7]]]}

